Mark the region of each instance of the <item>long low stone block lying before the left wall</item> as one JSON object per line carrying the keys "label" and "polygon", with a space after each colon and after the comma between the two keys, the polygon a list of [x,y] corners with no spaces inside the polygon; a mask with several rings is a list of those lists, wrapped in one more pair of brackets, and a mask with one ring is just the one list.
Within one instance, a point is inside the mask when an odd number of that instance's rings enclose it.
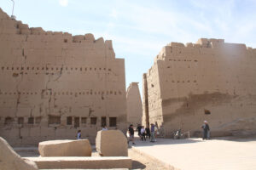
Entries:
{"label": "long low stone block lying before the left wall", "polygon": [[91,156],[88,139],[44,141],[39,143],[38,150],[41,156]]}

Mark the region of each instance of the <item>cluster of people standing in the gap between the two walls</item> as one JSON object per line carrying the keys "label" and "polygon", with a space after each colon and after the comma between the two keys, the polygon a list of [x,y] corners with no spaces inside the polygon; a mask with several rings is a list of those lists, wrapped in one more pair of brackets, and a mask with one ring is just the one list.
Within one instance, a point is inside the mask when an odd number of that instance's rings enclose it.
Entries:
{"label": "cluster of people standing in the gap between the two walls", "polygon": [[[146,141],[146,139],[150,139],[150,142],[156,142],[155,140],[156,131],[157,131],[157,127],[153,123],[151,123],[150,128],[149,127],[145,128],[140,124],[138,124],[137,126],[138,136],[143,141]],[[134,143],[134,127],[132,124],[128,127],[128,133],[129,133],[128,144],[130,141],[132,142],[132,144],[135,144]]]}

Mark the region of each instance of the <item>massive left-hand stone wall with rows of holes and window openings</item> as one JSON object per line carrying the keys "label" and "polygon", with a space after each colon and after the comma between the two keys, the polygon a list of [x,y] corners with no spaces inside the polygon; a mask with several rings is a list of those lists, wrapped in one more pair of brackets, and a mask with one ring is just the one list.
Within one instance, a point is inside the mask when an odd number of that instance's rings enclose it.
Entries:
{"label": "massive left-hand stone wall with rows of holes and window openings", "polygon": [[0,8],[0,135],[10,144],[126,127],[125,60],[92,34],[29,28]]}

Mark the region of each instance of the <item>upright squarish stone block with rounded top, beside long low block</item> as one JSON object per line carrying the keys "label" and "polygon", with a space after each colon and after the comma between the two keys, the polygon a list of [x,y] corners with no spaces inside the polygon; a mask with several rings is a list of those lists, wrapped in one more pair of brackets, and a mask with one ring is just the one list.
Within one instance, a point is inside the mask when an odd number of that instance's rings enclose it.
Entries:
{"label": "upright squarish stone block with rounded top, beside long low block", "polygon": [[99,131],[96,150],[101,156],[128,156],[127,139],[119,130]]}

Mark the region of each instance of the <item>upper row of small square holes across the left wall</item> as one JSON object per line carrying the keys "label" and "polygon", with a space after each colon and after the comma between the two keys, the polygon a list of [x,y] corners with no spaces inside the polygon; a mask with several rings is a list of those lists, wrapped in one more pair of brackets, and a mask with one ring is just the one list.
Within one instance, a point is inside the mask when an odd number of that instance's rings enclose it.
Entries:
{"label": "upper row of small square holes across the left wall", "polygon": [[9,66],[6,66],[6,67],[4,67],[4,66],[2,66],[1,67],[1,69],[2,69],[2,71],[4,71],[4,70],[7,70],[7,71],[9,71],[9,70],[11,70],[11,71],[14,71],[14,70],[17,70],[17,71],[24,71],[24,70],[26,70],[26,71],[29,71],[29,70],[32,70],[32,71],[34,71],[34,70],[37,70],[37,71],[48,71],[48,70],[51,70],[51,71],[68,71],[68,70],[70,70],[70,71],[96,71],[96,70],[99,70],[99,71],[111,71],[111,69],[110,68],[101,68],[101,67],[99,67],[99,68],[92,68],[92,67],[34,67],[34,66],[32,66],[32,67],[29,67],[29,66],[27,66],[27,67],[14,67],[14,66],[12,66],[12,67],[9,67]]}

